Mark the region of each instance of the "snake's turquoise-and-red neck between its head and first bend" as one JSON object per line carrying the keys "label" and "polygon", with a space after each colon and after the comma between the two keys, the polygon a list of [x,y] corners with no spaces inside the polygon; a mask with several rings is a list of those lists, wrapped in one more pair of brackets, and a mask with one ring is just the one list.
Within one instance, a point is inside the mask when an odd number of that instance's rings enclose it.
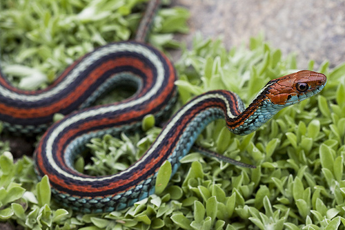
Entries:
{"label": "snake's turquoise-and-red neck between its head and first bend", "polygon": [[285,105],[277,105],[268,99],[254,99],[253,102],[236,117],[227,117],[226,126],[236,135],[247,135],[256,131]]}

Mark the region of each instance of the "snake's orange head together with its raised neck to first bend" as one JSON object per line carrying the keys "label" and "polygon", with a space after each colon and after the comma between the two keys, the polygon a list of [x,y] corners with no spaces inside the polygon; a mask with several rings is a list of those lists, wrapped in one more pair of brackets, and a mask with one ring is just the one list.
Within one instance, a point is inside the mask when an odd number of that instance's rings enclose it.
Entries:
{"label": "snake's orange head together with its raised neck to first bend", "polygon": [[244,112],[228,119],[226,124],[235,134],[251,133],[282,108],[319,93],[326,82],[325,75],[308,70],[273,79],[262,88]]}

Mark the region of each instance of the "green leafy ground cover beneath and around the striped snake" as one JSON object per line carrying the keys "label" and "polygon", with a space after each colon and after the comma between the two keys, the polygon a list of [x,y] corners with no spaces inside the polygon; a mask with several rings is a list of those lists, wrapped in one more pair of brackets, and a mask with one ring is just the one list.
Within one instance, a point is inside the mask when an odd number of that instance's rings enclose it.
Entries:
{"label": "green leafy ground cover beneath and around the striped snake", "polygon": [[[83,53],[127,40],[142,2],[1,1],[3,73],[16,86],[45,87]],[[172,32],[187,32],[187,17],[181,8],[161,10],[150,43],[177,47]],[[310,61],[308,68],[313,66]],[[296,71],[297,63],[262,36],[228,51],[219,39],[196,35],[176,68],[179,106],[219,88],[233,90],[248,104],[269,79]],[[235,136],[219,120],[198,138],[201,146],[257,169],[190,153],[162,193],[124,211],[82,215],[61,209],[50,199],[48,178],[37,181],[31,158],[14,160],[1,143],[0,219],[24,229],[344,229],[345,64],[330,70],[325,61],[318,71],[328,77],[319,95],[285,108],[255,133]],[[124,169],[159,133],[149,123],[144,121],[145,135],[91,140],[93,163],[84,168],[79,158],[77,168],[94,175]]]}

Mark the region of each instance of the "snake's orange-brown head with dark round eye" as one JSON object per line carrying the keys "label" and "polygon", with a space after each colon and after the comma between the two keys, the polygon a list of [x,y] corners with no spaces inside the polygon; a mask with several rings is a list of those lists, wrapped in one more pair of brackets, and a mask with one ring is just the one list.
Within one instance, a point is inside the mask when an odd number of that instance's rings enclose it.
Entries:
{"label": "snake's orange-brown head with dark round eye", "polygon": [[319,93],[326,82],[322,73],[301,70],[268,82],[266,98],[273,104],[289,106]]}

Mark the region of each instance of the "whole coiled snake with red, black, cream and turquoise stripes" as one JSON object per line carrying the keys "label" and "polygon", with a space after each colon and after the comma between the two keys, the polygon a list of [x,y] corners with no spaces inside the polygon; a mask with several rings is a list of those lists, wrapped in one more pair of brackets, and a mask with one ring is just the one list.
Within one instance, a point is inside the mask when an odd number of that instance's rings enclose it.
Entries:
{"label": "whole coiled snake with red, black, cream and turquoise stripes", "polygon": [[[146,153],[124,171],[91,176],[74,168],[76,156],[91,138],[138,131],[146,115],[163,119],[171,113],[177,100],[176,79],[168,57],[140,39],[111,43],[75,61],[43,90],[14,88],[0,73],[0,120],[10,132],[44,131],[34,151],[35,171],[40,178],[48,175],[59,204],[81,213],[104,213],[126,209],[155,193],[161,165],[170,162],[174,175],[181,157],[210,122],[225,119],[229,131],[247,135],[282,108],[316,95],[327,82],[325,75],[311,70],[278,77],[247,107],[236,93],[208,91],[172,115]],[[135,88],[134,95],[91,106],[109,90],[125,86]],[[66,116],[52,124],[55,113]]]}

